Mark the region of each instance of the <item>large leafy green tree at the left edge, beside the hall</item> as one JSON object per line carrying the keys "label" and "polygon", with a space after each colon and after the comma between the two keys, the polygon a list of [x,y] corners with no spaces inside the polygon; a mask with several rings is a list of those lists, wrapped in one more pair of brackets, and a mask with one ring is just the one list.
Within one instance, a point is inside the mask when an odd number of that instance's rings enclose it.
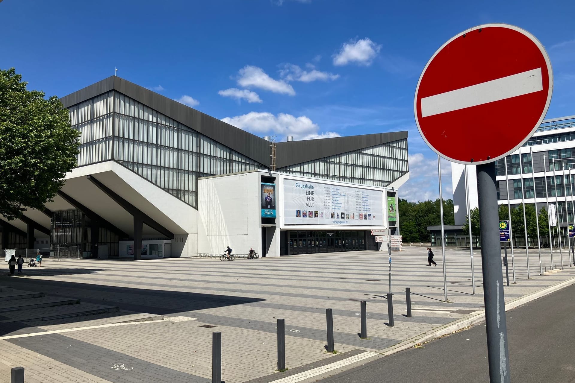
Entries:
{"label": "large leafy green tree at the left edge, beside the hall", "polygon": [[9,220],[52,201],[78,154],[68,110],[27,84],[14,68],[0,69],[0,214]]}

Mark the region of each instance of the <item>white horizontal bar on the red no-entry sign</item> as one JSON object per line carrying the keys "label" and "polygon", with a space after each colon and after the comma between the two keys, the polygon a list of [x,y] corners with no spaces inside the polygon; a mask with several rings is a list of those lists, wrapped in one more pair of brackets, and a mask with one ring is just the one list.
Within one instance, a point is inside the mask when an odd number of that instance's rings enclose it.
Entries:
{"label": "white horizontal bar on the red no-entry sign", "polygon": [[421,99],[421,117],[483,105],[543,90],[541,68]]}

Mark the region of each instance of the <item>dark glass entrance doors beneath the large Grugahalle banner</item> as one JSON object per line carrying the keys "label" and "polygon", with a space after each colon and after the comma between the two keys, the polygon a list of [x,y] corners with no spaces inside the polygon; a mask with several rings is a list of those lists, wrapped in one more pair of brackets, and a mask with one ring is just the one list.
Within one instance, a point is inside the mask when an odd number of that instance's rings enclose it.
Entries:
{"label": "dark glass entrance doors beneath the large Grugahalle banner", "polygon": [[287,254],[366,250],[365,231],[289,231]]}

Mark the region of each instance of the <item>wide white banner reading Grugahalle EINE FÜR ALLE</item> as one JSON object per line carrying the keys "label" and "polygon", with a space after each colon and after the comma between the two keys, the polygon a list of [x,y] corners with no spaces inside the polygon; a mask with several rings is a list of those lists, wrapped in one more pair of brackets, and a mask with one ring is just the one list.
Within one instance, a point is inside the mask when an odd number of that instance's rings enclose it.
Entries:
{"label": "wide white banner reading Grugahalle EINE F\u00dcR ALLE", "polygon": [[384,226],[383,192],[283,180],[286,225]]}

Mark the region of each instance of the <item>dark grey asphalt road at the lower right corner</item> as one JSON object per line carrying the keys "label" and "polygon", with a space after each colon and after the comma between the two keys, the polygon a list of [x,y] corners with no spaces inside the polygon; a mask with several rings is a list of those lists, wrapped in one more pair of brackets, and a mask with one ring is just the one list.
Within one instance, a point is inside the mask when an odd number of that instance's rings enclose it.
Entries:
{"label": "dark grey asphalt road at the lower right corner", "polygon": [[[575,285],[507,312],[511,381],[575,382]],[[321,381],[489,382],[485,324]]]}

